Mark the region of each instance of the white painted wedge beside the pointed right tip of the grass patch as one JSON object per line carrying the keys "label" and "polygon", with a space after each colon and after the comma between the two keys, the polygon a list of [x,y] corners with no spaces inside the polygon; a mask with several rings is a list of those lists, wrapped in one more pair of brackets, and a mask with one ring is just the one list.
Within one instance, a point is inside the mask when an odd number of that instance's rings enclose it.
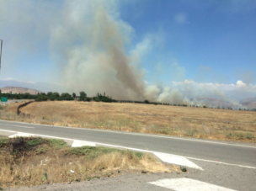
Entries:
{"label": "white painted wedge beside the pointed right tip of the grass patch", "polygon": [[185,157],[179,157],[177,155],[171,155],[171,154],[166,154],[161,152],[154,152],[154,154],[155,156],[160,158],[163,162],[168,162],[168,163],[176,164],[179,166],[192,167],[195,169],[199,169],[201,171],[204,170],[203,168],[197,166],[194,162],[190,162]]}

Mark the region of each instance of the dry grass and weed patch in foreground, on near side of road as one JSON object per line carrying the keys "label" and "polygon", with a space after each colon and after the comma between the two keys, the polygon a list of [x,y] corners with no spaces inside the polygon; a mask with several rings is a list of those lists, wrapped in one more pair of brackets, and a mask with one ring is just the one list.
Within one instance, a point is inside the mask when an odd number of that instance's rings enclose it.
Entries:
{"label": "dry grass and weed patch in foreground, on near side of road", "polygon": [[0,137],[0,188],[111,178],[123,172],[174,172],[152,156],[65,141]]}

